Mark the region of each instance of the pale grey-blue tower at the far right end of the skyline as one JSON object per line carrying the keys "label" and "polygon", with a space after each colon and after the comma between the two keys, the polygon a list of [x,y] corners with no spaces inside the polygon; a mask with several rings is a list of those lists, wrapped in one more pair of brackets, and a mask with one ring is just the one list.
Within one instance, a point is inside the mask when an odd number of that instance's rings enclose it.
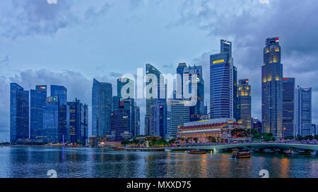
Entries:
{"label": "pale grey-blue tower at the far right end of the skyline", "polygon": [[308,136],[312,126],[312,88],[296,89],[295,136]]}

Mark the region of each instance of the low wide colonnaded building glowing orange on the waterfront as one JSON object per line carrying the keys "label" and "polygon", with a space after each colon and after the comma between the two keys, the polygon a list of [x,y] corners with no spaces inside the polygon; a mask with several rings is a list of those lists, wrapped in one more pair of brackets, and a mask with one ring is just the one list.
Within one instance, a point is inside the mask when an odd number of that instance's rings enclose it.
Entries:
{"label": "low wide colonnaded building glowing orange on the waterfront", "polygon": [[242,122],[235,122],[235,119],[232,118],[187,122],[179,126],[177,138],[198,138],[199,142],[208,141],[209,136],[230,139],[232,129],[242,129]]}

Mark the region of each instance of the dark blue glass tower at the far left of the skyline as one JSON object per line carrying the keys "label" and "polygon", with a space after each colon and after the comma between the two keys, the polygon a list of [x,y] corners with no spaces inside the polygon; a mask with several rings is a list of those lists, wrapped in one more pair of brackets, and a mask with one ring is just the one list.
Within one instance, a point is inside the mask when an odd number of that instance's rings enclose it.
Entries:
{"label": "dark blue glass tower at the far left of the skyline", "polygon": [[10,141],[29,137],[29,91],[10,84]]}

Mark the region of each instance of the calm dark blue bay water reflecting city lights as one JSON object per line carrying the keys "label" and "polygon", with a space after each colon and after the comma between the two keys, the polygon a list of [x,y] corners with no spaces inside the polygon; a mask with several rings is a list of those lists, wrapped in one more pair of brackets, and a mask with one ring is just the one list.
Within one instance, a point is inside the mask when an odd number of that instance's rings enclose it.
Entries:
{"label": "calm dark blue bay water reflecting city lights", "polygon": [[0,148],[0,177],[318,177],[318,157],[230,153],[205,155],[110,151],[105,148]]}

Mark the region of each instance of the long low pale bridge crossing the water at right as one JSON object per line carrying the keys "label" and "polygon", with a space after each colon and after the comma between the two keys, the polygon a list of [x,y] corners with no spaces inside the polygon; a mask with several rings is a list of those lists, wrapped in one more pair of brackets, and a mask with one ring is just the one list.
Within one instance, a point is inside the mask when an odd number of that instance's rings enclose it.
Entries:
{"label": "long low pale bridge crossing the water at right", "polygon": [[299,144],[299,143],[235,143],[235,144],[220,144],[220,145],[211,145],[211,146],[184,146],[176,148],[168,148],[170,151],[188,151],[188,150],[206,150],[213,151],[213,153],[218,153],[220,150],[227,150],[232,148],[247,148],[249,150],[256,148],[280,148],[294,151],[305,150],[311,152],[318,151],[318,145],[314,144]]}

